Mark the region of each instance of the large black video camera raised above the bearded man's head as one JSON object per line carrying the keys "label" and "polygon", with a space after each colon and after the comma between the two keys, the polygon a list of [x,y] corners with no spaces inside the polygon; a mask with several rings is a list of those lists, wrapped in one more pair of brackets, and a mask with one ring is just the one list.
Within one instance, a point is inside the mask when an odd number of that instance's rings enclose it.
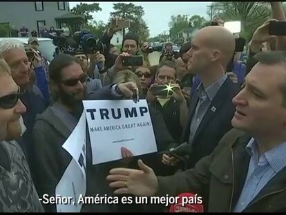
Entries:
{"label": "large black video camera raised above the bearded man's head", "polygon": [[83,50],[86,55],[95,54],[97,51],[104,53],[104,44],[97,41],[95,35],[86,29],[75,32],[73,37],[66,37],[63,30],[55,30],[55,33],[50,34],[50,38],[53,39],[53,44],[58,46],[60,53],[74,55],[76,50]]}

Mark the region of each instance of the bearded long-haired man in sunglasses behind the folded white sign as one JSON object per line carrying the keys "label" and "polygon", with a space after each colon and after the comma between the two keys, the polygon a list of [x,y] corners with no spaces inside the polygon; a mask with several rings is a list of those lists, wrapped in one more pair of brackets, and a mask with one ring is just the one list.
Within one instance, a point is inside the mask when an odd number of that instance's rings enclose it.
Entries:
{"label": "bearded long-haired man in sunglasses behind the folded white sign", "polygon": [[[88,75],[82,70],[77,59],[70,55],[57,55],[49,65],[50,83],[55,103],[38,116],[33,129],[34,162],[31,168],[39,197],[44,194],[55,196],[55,187],[70,163],[70,155],[61,147],[77,125],[82,115],[82,100],[111,100],[114,97],[131,97],[135,84],[124,83],[104,86],[87,93]],[[130,93],[130,94],[128,94]],[[110,168],[92,166],[90,143],[87,140],[87,194],[111,193],[104,183]],[[88,154],[90,153],[90,154]],[[103,169],[102,169],[103,168]],[[93,209],[91,209],[91,207]],[[109,212],[109,205],[86,205],[83,211]],[[55,204],[44,205],[46,212],[56,212]]]}

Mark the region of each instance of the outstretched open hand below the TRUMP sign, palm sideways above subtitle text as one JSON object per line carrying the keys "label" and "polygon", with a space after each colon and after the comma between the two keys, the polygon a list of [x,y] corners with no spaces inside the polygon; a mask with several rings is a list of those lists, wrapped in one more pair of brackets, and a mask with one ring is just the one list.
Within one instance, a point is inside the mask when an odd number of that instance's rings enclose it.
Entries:
{"label": "outstretched open hand below the TRUMP sign, palm sideways above subtitle text", "polygon": [[114,194],[133,194],[135,196],[154,196],[158,189],[158,179],[153,169],[138,160],[137,169],[115,168],[109,171],[107,180]]}

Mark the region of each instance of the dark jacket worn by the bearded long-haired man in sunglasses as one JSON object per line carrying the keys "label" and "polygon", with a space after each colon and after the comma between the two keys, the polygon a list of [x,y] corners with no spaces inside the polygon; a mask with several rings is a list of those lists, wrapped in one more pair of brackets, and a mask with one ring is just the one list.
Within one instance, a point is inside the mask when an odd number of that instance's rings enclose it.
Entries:
{"label": "dark jacket worn by the bearded long-haired man in sunglasses", "polygon": [[[61,180],[66,167],[72,157],[61,146],[72,131],[58,118],[52,109],[48,108],[39,115],[33,130],[34,137],[34,165],[32,165],[32,177],[39,197],[44,194],[55,196],[55,187]],[[88,140],[88,138],[86,138]],[[87,151],[90,151],[90,142],[86,143]],[[89,150],[88,150],[89,149]],[[112,190],[105,180],[109,169],[113,166],[92,165],[91,153],[87,153],[86,196],[108,196]],[[56,205],[44,205],[46,212],[56,212]],[[112,212],[112,205],[84,205],[82,212]]]}

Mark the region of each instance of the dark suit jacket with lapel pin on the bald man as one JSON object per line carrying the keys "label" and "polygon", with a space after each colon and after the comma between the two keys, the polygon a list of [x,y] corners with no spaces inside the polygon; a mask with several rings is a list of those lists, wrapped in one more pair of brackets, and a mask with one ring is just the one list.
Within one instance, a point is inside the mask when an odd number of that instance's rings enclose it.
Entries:
{"label": "dark suit jacket with lapel pin on the bald man", "polygon": [[[192,151],[187,167],[193,167],[200,158],[208,156],[222,136],[232,128],[231,119],[235,111],[232,99],[239,90],[240,86],[233,83],[229,78],[222,84],[202,118],[192,144],[187,144],[187,147],[190,147]],[[183,134],[183,142],[189,141],[191,119],[196,111],[198,100],[198,93],[193,91],[189,106],[189,121]]]}

